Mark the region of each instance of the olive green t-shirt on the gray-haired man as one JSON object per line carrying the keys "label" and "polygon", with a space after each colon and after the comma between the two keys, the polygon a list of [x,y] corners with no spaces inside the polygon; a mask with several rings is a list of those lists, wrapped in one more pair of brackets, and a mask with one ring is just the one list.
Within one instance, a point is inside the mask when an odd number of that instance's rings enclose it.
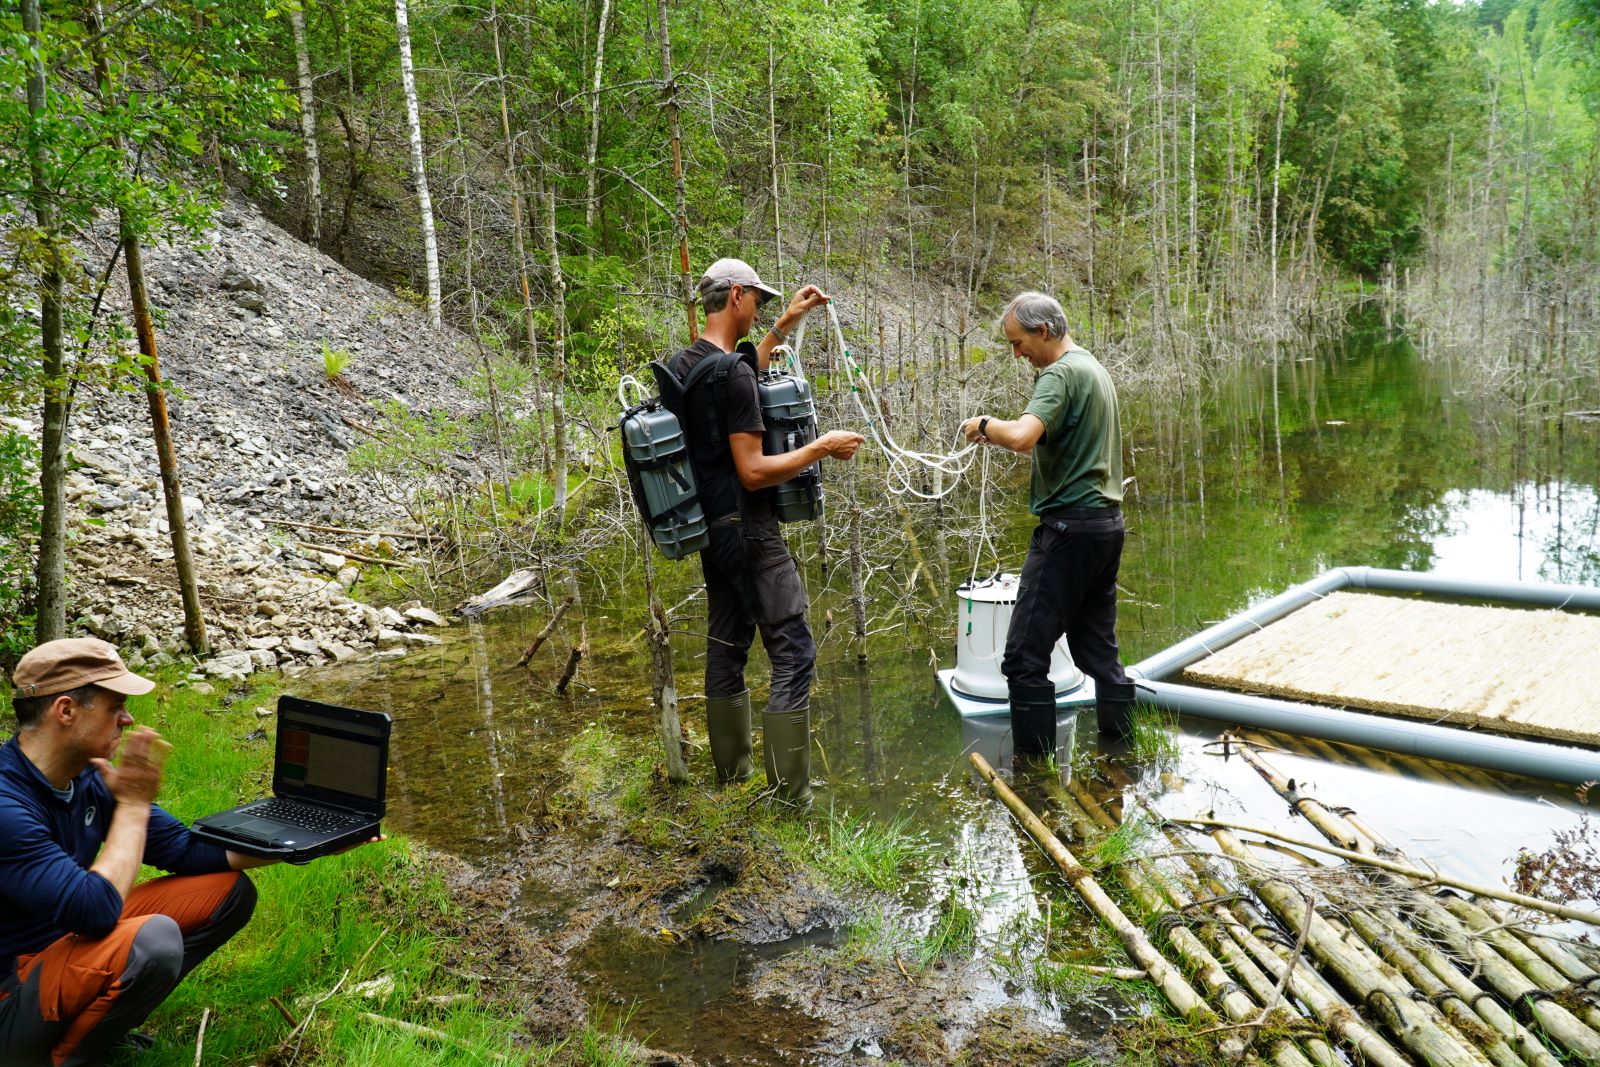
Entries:
{"label": "olive green t-shirt on the gray-haired man", "polygon": [[1117,387],[1099,360],[1072,347],[1038,373],[1024,414],[1045,424],[1034,445],[1029,507],[1035,515],[1062,507],[1122,502],[1122,424]]}

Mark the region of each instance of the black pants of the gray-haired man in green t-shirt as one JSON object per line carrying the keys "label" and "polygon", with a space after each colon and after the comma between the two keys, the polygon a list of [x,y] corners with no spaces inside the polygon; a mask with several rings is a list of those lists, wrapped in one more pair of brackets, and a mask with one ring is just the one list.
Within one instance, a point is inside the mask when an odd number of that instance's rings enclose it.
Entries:
{"label": "black pants of the gray-haired man in green t-shirt", "polygon": [[1117,653],[1122,520],[1069,518],[1066,528],[1040,522],[1027,547],[1000,659],[1013,689],[1050,685],[1050,654],[1062,633],[1083,673],[1096,681],[1128,680]]}

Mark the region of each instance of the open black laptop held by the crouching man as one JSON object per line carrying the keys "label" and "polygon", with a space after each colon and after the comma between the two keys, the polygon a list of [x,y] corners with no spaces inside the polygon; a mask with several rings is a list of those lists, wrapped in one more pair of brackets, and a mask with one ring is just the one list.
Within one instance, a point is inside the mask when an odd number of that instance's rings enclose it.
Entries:
{"label": "open black laptop held by the crouching man", "polygon": [[382,712],[280,696],[272,797],[198,819],[190,832],[291,864],[378,837],[390,726]]}

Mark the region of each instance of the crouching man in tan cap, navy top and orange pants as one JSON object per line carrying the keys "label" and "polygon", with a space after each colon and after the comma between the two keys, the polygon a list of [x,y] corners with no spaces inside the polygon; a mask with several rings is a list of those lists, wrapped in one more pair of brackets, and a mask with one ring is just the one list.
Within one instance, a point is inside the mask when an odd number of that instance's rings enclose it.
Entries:
{"label": "crouching man in tan cap, navy top and orange pants", "polygon": [[[0,1064],[99,1064],[256,907],[258,861],[155,806],[155,688],[106,641],[46,641],[13,675],[0,747]],[[118,742],[122,760],[112,763]],[[173,872],[134,886],[139,864]],[[138,1035],[134,1035],[138,1038]]]}

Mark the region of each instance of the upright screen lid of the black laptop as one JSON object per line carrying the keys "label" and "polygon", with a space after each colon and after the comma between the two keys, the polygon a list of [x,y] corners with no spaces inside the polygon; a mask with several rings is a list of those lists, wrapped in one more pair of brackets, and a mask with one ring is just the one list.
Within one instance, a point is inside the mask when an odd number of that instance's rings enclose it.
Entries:
{"label": "upright screen lid of the black laptop", "polygon": [[389,729],[382,712],[280,696],[274,795],[382,816]]}

